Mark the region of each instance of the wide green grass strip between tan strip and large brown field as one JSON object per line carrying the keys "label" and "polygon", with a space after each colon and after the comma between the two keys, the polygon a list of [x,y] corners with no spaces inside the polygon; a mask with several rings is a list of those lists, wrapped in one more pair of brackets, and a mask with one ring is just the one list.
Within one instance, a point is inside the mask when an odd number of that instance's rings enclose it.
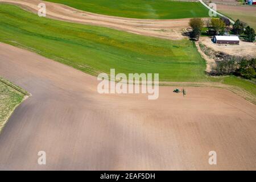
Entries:
{"label": "wide green grass strip between tan strip and large brown field", "polygon": [[161,81],[204,81],[205,61],[189,40],[165,40],[41,18],[0,5],[0,41],[28,48],[91,75],[159,73]]}

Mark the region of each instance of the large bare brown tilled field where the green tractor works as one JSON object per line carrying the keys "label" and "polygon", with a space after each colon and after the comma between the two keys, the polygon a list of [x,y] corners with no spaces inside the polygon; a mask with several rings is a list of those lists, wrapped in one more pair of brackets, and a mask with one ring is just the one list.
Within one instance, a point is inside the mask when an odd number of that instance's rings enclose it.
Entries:
{"label": "large bare brown tilled field where the green tractor works", "polygon": [[256,169],[256,106],[228,90],[98,94],[96,77],[3,43],[0,75],[32,94],[0,134],[1,170]]}

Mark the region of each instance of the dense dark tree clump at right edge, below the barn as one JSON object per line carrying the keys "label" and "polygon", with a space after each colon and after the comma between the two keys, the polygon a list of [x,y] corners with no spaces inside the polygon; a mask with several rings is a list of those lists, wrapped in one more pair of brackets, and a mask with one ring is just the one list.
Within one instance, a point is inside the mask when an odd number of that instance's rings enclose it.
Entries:
{"label": "dense dark tree clump at right edge, below the barn", "polygon": [[212,68],[212,75],[236,75],[251,80],[256,78],[256,59],[238,59],[232,57],[229,60],[216,62],[216,67]]}

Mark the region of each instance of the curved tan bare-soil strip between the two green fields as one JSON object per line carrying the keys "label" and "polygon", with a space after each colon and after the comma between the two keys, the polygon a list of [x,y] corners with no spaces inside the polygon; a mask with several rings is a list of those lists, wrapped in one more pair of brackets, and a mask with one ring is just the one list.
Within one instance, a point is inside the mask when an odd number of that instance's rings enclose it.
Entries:
{"label": "curved tan bare-soil strip between the two green fields", "polygon": [[139,35],[155,36],[164,39],[183,39],[181,35],[183,28],[188,28],[189,18],[154,20],[154,19],[134,19],[121,18],[90,13],[74,9],[69,6],[58,3],[39,1],[39,0],[0,0],[0,3],[10,3],[18,5],[25,10],[38,14],[39,3],[46,4],[46,17],[63,20],[65,22],[74,22],[81,24],[90,24],[116,30],[131,32]]}

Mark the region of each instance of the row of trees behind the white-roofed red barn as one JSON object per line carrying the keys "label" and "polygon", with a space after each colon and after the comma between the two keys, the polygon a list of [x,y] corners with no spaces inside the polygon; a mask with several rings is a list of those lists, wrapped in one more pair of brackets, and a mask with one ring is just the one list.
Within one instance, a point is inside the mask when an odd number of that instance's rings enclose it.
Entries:
{"label": "row of trees behind the white-roofed red barn", "polygon": [[[224,35],[225,32],[230,31],[230,20],[225,17],[212,18],[204,22],[201,18],[193,18],[189,22],[189,26],[192,28],[191,38],[199,40],[201,35],[201,30],[204,24],[208,27],[208,35]],[[244,34],[244,39],[248,42],[255,41],[255,31],[250,26],[246,26],[246,23],[240,21],[239,19],[233,25],[233,34],[242,35]]]}

